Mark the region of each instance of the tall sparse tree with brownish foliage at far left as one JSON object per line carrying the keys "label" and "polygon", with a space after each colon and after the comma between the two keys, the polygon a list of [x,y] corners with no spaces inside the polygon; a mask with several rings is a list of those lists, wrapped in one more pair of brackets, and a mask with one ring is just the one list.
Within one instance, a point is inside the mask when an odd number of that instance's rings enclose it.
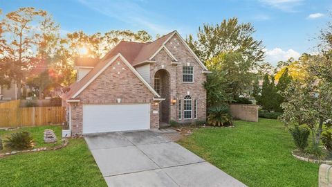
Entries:
{"label": "tall sparse tree with brownish foliage at far left", "polygon": [[35,8],[19,8],[9,12],[2,21],[5,32],[10,35],[6,54],[12,63],[10,65],[11,77],[17,83],[18,98],[21,98],[21,83],[26,77],[30,66],[33,66],[30,58],[33,56],[33,45],[36,44],[37,35],[33,29],[33,21],[37,17],[46,15],[43,10]]}

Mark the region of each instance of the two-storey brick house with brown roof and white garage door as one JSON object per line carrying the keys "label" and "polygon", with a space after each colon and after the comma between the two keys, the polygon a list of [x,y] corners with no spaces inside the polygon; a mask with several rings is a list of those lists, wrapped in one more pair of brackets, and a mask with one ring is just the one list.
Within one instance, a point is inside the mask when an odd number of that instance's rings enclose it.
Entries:
{"label": "two-storey brick house with brown roof and white garage door", "polygon": [[76,62],[78,81],[62,95],[72,134],[206,119],[210,71],[176,30],[154,42],[120,42],[99,62],[84,63]]}

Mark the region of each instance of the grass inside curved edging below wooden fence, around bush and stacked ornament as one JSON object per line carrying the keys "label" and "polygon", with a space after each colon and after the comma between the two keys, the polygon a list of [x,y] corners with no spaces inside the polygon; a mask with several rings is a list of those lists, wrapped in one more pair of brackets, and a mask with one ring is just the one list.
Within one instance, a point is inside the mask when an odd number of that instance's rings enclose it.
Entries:
{"label": "grass inside curved edging below wooden fence, around bush and stacked ornament", "polygon": [[[44,143],[44,130],[45,129],[52,129],[55,132],[55,135],[57,136],[57,142],[56,143]],[[34,148],[42,148],[42,147],[53,147],[55,145],[61,144],[62,139],[62,127],[61,126],[41,126],[41,127],[21,127],[17,130],[0,130],[0,137],[2,140],[6,140],[6,137],[10,136],[10,134],[15,132],[22,132],[27,131],[30,132],[31,136],[33,136],[33,144]],[[6,148],[3,146],[3,150],[0,151],[0,153],[3,152],[10,152],[12,151],[10,148]]]}

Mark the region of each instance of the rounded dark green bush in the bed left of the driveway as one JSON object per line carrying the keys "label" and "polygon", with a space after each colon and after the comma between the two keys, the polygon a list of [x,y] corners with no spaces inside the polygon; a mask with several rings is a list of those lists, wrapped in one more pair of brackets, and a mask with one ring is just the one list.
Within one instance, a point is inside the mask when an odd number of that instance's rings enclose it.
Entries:
{"label": "rounded dark green bush in the bed left of the driveway", "polygon": [[29,132],[16,132],[10,134],[6,140],[4,140],[5,146],[15,150],[23,150],[33,147],[33,137]]}

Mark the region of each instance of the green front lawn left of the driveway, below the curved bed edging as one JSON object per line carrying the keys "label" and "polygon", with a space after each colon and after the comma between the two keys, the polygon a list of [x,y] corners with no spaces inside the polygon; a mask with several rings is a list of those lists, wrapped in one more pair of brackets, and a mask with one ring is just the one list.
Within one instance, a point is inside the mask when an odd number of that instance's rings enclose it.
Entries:
{"label": "green front lawn left of the driveway, below the curved bed edging", "polygon": [[84,139],[0,159],[0,176],[1,186],[107,186]]}

